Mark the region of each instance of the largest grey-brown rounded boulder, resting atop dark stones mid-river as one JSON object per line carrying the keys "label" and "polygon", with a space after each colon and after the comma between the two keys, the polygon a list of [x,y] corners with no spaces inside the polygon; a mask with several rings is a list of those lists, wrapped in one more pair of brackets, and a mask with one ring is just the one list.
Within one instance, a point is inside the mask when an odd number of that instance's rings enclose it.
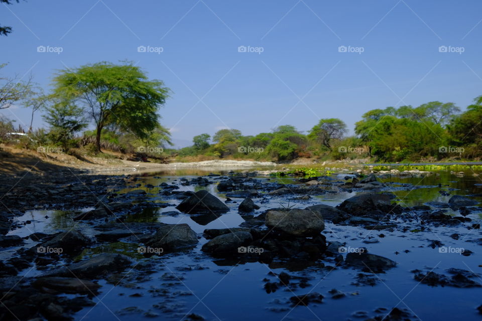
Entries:
{"label": "largest grey-brown rounded boulder, resting atop dark stones mid-river", "polygon": [[302,209],[269,211],[265,224],[270,229],[293,236],[316,236],[325,229],[320,212]]}

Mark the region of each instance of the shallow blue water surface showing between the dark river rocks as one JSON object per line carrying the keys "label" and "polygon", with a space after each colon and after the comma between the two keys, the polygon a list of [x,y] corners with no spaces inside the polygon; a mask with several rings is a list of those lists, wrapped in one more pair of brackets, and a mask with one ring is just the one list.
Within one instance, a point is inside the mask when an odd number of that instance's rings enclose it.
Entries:
{"label": "shallow blue water surface showing between the dark river rocks", "polygon": [[[228,203],[230,211],[219,217],[192,216],[179,213],[176,216],[163,215],[165,212],[176,211],[174,206],[180,201],[175,199],[164,199],[158,195],[159,188],[149,189],[147,184],[158,186],[162,182],[179,184],[179,178],[188,180],[195,176],[162,176],[165,173],[143,174],[138,181],[133,182],[133,187],[119,190],[117,193],[126,193],[131,190],[144,189],[152,195],[148,195],[143,202],[152,203],[152,207],[144,209],[141,213],[130,216],[128,221],[132,222],[164,222],[169,224],[188,224],[196,233],[202,235],[206,228],[231,228],[237,227],[245,220],[237,213],[237,206],[242,199],[234,199],[237,203]],[[201,174],[190,172],[191,175]],[[202,172],[201,175],[206,175]],[[219,174],[225,174],[219,173]],[[393,192],[397,198],[395,201],[405,206],[422,205],[429,201],[447,202],[450,196],[442,196],[438,191],[445,190],[451,195],[473,195],[473,198],[482,201],[482,186],[475,184],[482,183],[480,178],[470,176],[456,178],[450,173],[442,172],[438,176],[425,178],[384,178],[387,183],[383,191]],[[217,183],[216,178],[213,181]],[[266,178],[260,178],[266,180]],[[336,175],[333,181],[339,180]],[[276,180],[276,179],[271,179]],[[283,184],[296,184],[295,179],[280,179]],[[140,186],[135,186],[141,184]],[[438,185],[442,184],[442,188]],[[225,194],[217,193],[215,184],[207,187],[180,186],[180,190],[196,191],[206,189],[224,199]],[[290,206],[305,208],[314,204],[328,204],[335,206],[344,199],[354,196],[356,193],[324,194],[312,197],[308,201],[290,201]],[[268,208],[280,207],[280,204],[287,206],[288,196],[269,198],[266,203],[255,203],[261,206],[256,211],[262,213]],[[162,204],[174,206],[164,207]],[[161,207],[162,206],[162,207]],[[89,209],[83,209],[87,211]],[[448,209],[450,213],[450,209]],[[48,218],[45,218],[45,216]],[[98,233],[89,223],[73,222],[72,213],[68,211],[29,211],[24,216],[18,217],[19,222],[30,220],[32,223],[12,231],[10,234],[27,236],[33,232],[54,233],[58,230],[67,230],[72,224],[78,224],[78,228],[88,236]],[[468,215],[473,223],[480,222],[480,214]],[[403,223],[410,229],[418,229],[418,223]],[[411,225],[413,224],[413,225]],[[86,307],[77,312],[76,320],[137,320],[144,318],[144,312],[158,313],[157,318],[182,320],[190,313],[202,315],[207,320],[246,320],[246,319],[269,319],[269,320],[343,320],[360,319],[351,314],[355,311],[366,311],[368,316],[384,315],[383,312],[375,313],[377,308],[391,308],[397,306],[406,308],[411,314],[422,320],[479,320],[475,307],[482,304],[480,299],[480,288],[454,288],[454,287],[430,287],[426,284],[419,284],[414,280],[413,269],[427,269],[437,273],[447,274],[448,268],[461,268],[464,270],[481,273],[479,264],[480,252],[479,241],[480,230],[467,230],[466,224],[458,227],[430,227],[423,232],[400,232],[395,230],[366,230],[363,227],[339,226],[326,222],[323,232],[328,241],[346,242],[347,246],[358,248],[366,247],[370,253],[379,254],[393,259],[398,263],[396,268],[386,273],[370,274],[377,281],[375,286],[356,286],[355,276],[360,273],[354,268],[334,266],[331,258],[320,260],[319,265],[310,267],[295,268],[279,266],[278,264],[263,264],[260,262],[238,263],[227,260],[213,259],[201,252],[201,246],[207,240],[201,237],[199,244],[191,251],[175,254],[166,254],[161,257],[152,256],[144,258],[137,252],[141,244],[136,237],[122,239],[122,242],[104,243],[91,249],[85,250],[78,259],[88,257],[101,252],[123,253],[139,260],[153,263],[156,272],[142,280],[130,280],[130,273],[127,273],[126,280],[129,280],[129,287],[119,285],[113,286],[100,280],[103,285],[100,293],[93,300],[97,304],[94,307]],[[450,237],[451,234],[460,234],[459,240]],[[383,234],[381,237],[379,235]],[[378,239],[379,243],[366,244],[363,241]],[[432,249],[428,246],[430,240],[440,240],[446,247],[463,247],[474,252],[471,256],[465,257],[457,253],[440,253],[438,248]],[[26,247],[34,246],[29,241]],[[408,250],[408,253],[404,251]],[[9,255],[13,249],[0,252],[0,256]],[[237,264],[236,264],[237,263]],[[323,267],[324,265],[324,267]],[[310,284],[306,288],[283,288],[280,287],[274,293],[267,293],[263,288],[264,278],[276,281],[275,276],[270,272],[280,273],[286,271],[290,275],[308,278]],[[35,276],[42,271],[26,269],[24,274]],[[133,274],[134,275],[134,274]],[[482,279],[476,279],[482,283]],[[132,286],[132,287],[131,287]],[[346,293],[346,297],[332,299],[328,293],[336,288]],[[167,291],[165,291],[167,290]],[[319,292],[325,296],[323,303],[309,304],[308,306],[292,307],[289,298],[294,295],[306,294],[308,292]],[[130,296],[133,294],[138,296]],[[137,309],[130,309],[136,307]],[[387,313],[385,312],[385,314]],[[147,317],[146,317],[147,318]],[[365,317],[367,318],[367,317]],[[361,318],[364,319],[364,318]]]}

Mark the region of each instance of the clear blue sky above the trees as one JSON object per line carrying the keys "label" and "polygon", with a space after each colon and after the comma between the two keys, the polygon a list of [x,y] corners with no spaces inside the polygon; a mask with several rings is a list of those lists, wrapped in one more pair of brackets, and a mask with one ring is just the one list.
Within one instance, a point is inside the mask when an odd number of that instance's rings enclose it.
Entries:
{"label": "clear blue sky above the trees", "polygon": [[[160,114],[178,145],[226,127],[253,135],[292,124],[306,132],[331,117],[352,132],[370,109],[433,100],[465,108],[482,94],[477,0],[133,4],[31,0],[2,6],[0,24],[14,29],[0,38],[0,62],[9,63],[3,75],[31,72],[48,89],[59,69],[133,61],[172,89]],[[62,52],[38,52],[38,46]],[[152,52],[138,52],[139,46]],[[30,111],[20,106],[3,113],[17,123],[30,121]],[[43,125],[37,116],[34,126]]]}

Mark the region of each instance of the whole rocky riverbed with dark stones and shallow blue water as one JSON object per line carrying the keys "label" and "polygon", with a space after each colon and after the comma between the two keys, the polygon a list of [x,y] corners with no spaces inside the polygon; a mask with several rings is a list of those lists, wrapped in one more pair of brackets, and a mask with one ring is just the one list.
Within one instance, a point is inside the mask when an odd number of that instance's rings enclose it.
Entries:
{"label": "whole rocky riverbed with dark stones and shallow blue water", "polygon": [[6,180],[0,319],[480,319],[480,179],[365,174]]}

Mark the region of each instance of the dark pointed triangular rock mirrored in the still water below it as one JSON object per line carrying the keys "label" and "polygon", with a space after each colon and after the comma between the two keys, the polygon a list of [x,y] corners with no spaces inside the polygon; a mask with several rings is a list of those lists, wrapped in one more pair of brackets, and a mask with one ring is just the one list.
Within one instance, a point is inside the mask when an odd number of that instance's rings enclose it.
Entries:
{"label": "dark pointed triangular rock mirrored in the still water below it", "polygon": [[190,197],[184,199],[181,204],[176,206],[176,209],[189,214],[229,211],[229,208],[224,203],[205,190],[197,191]]}

